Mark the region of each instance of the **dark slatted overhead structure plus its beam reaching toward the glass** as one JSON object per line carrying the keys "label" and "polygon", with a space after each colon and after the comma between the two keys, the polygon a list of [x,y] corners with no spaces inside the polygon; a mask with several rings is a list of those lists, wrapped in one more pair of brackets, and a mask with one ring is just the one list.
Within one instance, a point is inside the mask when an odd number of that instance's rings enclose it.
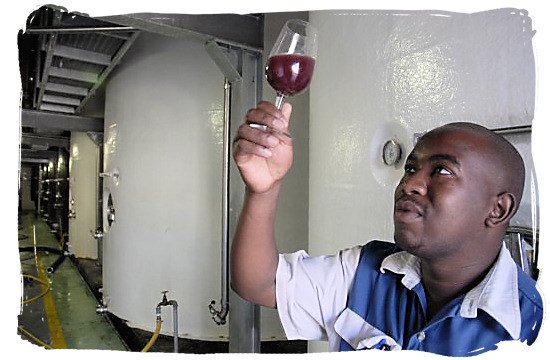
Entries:
{"label": "dark slatted overhead structure plus its beam reaching toward the glass", "polygon": [[261,15],[138,13],[93,18],[45,5],[18,34],[23,162],[48,159],[71,131],[103,132],[104,85],[147,31],[260,49]]}

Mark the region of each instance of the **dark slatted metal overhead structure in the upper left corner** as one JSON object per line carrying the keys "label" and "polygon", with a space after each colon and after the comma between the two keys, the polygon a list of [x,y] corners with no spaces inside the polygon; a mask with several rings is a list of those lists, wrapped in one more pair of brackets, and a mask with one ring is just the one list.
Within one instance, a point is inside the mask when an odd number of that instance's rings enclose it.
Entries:
{"label": "dark slatted metal overhead structure in the upper left corner", "polygon": [[138,35],[51,5],[29,15],[18,35],[22,162],[68,149],[70,131],[103,132],[102,86]]}

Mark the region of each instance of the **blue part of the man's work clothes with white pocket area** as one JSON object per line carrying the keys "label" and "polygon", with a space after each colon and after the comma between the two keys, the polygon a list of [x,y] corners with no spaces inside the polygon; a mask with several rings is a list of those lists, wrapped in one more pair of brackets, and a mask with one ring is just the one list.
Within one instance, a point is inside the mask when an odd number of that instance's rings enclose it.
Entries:
{"label": "blue part of the man's work clothes with white pocket area", "polygon": [[[342,337],[340,351],[408,349],[470,356],[513,339],[500,322],[479,307],[476,317],[461,316],[461,308],[467,305],[463,304],[465,295],[452,300],[427,323],[422,282],[409,289],[402,283],[404,274],[380,271],[382,260],[400,251],[395,244],[381,241],[363,247],[347,308],[337,320]],[[542,300],[535,281],[517,266],[516,271],[521,312],[519,339],[530,345],[542,322]]]}

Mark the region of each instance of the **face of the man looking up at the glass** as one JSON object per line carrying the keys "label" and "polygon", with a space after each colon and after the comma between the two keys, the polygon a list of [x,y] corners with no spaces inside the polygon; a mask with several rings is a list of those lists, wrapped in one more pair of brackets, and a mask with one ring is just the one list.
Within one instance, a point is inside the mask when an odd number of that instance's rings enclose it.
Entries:
{"label": "face of the man looking up at the glass", "polygon": [[[479,251],[491,205],[488,151],[468,132],[424,136],[395,190],[394,239],[425,259],[457,259]],[[490,167],[490,166],[489,166]]]}

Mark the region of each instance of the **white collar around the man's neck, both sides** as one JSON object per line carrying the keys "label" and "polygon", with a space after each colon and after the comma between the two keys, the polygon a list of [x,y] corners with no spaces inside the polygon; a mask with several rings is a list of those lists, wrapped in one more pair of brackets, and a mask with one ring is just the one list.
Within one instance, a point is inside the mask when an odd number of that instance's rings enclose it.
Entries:
{"label": "white collar around the man's neck, both sides", "polygon": [[[409,290],[420,283],[420,259],[405,251],[387,256],[380,265],[382,273],[386,270],[404,275],[401,283]],[[489,273],[481,283],[464,296],[460,315],[465,318],[475,318],[477,309],[482,309],[492,316],[513,339],[519,338],[521,313],[517,268],[504,244]]]}

